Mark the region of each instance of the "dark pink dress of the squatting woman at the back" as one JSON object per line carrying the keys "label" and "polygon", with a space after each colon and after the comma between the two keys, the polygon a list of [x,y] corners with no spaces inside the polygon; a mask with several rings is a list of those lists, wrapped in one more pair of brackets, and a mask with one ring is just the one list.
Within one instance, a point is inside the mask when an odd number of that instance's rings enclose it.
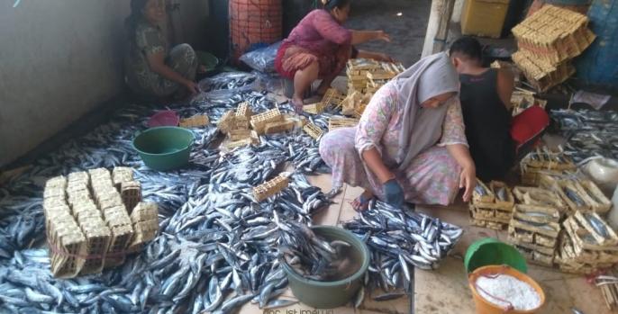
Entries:
{"label": "dark pink dress of the squatting woman at the back", "polygon": [[277,51],[275,67],[284,77],[294,78],[312,62],[320,65],[321,78],[335,76],[345,67],[351,53],[351,31],[325,10],[308,13]]}

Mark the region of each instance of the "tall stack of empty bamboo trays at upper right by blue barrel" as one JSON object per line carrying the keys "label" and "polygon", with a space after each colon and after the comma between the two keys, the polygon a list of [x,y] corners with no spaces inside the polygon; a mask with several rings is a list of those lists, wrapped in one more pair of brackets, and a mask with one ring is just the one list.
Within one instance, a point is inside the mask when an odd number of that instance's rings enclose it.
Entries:
{"label": "tall stack of empty bamboo trays at upper right by blue barrel", "polygon": [[564,82],[575,69],[570,59],[580,55],[595,40],[586,15],[554,5],[545,5],[513,27],[519,51],[513,61],[540,91]]}

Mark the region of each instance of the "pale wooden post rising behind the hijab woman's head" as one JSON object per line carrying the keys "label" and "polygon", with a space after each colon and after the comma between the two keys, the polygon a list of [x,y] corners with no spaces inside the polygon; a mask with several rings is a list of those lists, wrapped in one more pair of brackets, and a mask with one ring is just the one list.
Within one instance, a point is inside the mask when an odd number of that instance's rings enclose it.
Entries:
{"label": "pale wooden post rising behind the hijab woman's head", "polygon": [[446,49],[450,15],[453,13],[454,5],[455,0],[432,0],[432,9],[423,45],[423,58]]}

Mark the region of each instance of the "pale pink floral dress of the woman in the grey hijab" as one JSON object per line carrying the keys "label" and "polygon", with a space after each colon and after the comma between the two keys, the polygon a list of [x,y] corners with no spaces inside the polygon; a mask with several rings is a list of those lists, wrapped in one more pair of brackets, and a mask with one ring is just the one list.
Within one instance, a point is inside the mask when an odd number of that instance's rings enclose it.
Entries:
{"label": "pale pink floral dress of the woman in the grey hijab", "polygon": [[[446,146],[468,146],[468,141],[459,98],[443,105],[449,108],[442,122],[441,140],[414,157],[404,172],[395,173],[404,188],[406,202],[448,205],[459,192],[461,168]],[[403,106],[404,97],[399,96],[394,85],[387,84],[373,96],[357,127],[332,130],[323,137],[320,155],[332,168],[333,187],[343,183],[360,186],[384,199],[382,184],[360,156],[369,148],[377,148],[385,165],[396,168],[394,157],[399,147]]]}

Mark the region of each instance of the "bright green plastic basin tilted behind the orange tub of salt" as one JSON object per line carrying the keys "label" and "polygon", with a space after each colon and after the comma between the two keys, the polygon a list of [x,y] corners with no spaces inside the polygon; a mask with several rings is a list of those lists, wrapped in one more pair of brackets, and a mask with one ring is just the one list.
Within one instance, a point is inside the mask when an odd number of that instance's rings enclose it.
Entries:
{"label": "bright green plastic basin tilted behind the orange tub of salt", "polygon": [[523,274],[528,272],[525,257],[513,246],[495,238],[482,238],[472,243],[466,251],[464,265],[468,274],[487,265],[509,265]]}

